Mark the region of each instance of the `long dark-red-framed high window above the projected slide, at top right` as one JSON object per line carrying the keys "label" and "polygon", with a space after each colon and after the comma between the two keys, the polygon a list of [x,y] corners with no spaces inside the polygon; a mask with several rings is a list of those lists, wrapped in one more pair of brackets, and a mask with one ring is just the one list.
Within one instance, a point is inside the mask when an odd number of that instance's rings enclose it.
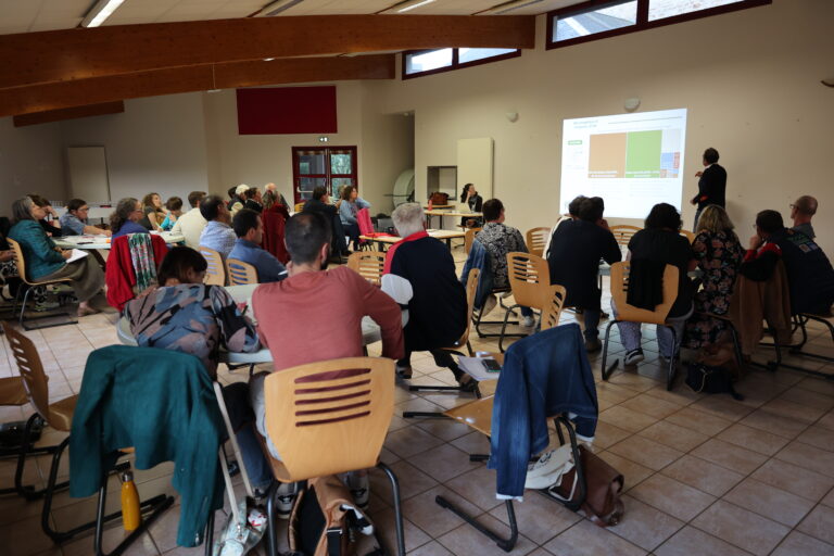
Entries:
{"label": "long dark-red-framed high window above the projected slide, at top right", "polygon": [[772,0],[589,0],[547,14],[547,48],[744,10]]}

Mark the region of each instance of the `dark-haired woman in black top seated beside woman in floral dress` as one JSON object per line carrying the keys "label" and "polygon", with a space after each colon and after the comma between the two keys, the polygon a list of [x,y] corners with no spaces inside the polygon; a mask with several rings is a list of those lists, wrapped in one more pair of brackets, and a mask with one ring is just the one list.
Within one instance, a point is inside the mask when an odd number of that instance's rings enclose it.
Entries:
{"label": "dark-haired woman in black top seated beside woman in floral dress", "polygon": [[[678,348],[683,336],[683,325],[692,315],[692,298],[694,287],[686,276],[688,270],[695,269],[695,258],[690,242],[679,233],[681,229],[681,215],[678,210],[668,204],[659,203],[652,207],[645,223],[645,229],[636,232],[629,241],[629,256],[631,265],[630,288],[639,279],[653,279],[650,270],[643,274],[639,267],[674,265],[678,267],[678,299],[669,309],[666,321],[674,328],[675,345],[671,342],[671,332],[664,326],[657,327],[657,343],[660,346],[660,355],[672,358],[678,353]],[[647,264],[646,264],[647,263]],[[652,265],[655,263],[655,265]],[[662,267],[660,267],[662,268]],[[662,276],[662,270],[661,270]],[[662,280],[662,277],[660,278]],[[615,316],[617,307],[611,300],[611,308]],[[654,309],[654,307],[647,307]],[[641,349],[640,323],[618,323],[622,345],[626,348],[626,365],[635,365],[643,361]]]}

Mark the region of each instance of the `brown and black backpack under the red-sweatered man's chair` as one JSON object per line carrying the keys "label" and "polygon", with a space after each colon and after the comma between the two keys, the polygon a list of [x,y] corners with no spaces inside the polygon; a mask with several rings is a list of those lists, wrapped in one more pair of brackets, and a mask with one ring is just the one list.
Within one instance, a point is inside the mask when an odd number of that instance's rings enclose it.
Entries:
{"label": "brown and black backpack under the red-sweatered man's chair", "polygon": [[290,515],[287,534],[291,554],[351,556],[356,553],[357,532],[375,534],[374,525],[354,505],[344,483],[333,475],[311,479]]}

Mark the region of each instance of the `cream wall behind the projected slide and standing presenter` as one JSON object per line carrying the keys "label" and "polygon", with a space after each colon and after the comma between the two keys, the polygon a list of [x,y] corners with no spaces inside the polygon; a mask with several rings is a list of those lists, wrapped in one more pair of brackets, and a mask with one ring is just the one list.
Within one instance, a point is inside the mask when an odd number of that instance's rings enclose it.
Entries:
{"label": "cream wall behind the projected slide and standing presenter", "polygon": [[[558,210],[560,134],[565,118],[687,108],[684,199],[705,148],[721,152],[729,173],[728,210],[747,238],[756,212],[803,193],[821,205],[820,242],[834,252],[834,91],[831,76],[834,2],[773,4],[573,47],[538,48],[520,58],[466,70],[377,84],[379,112],[416,111],[418,195],[426,167],[455,165],[458,138],[495,139],[494,194],[507,220],[528,229],[553,223]],[[506,112],[518,112],[509,123]],[[692,226],[694,208],[684,205]]]}

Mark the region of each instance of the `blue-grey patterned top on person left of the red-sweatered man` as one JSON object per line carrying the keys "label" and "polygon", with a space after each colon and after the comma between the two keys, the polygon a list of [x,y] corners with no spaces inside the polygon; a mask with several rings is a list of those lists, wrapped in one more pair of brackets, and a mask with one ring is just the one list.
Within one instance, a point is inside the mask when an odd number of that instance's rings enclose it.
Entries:
{"label": "blue-grey patterned top on person left of the red-sweatered man", "polygon": [[125,305],[124,315],[139,345],[197,355],[208,374],[217,375],[220,340],[230,352],[257,351],[252,321],[241,315],[220,287],[184,283],[159,288]]}

